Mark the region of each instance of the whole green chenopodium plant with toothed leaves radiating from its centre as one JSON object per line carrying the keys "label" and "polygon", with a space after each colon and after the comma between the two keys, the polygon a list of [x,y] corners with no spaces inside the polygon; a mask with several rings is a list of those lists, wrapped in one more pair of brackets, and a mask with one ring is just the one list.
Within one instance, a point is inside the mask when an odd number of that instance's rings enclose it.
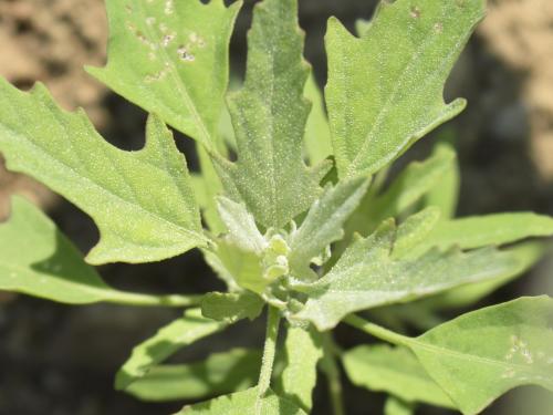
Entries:
{"label": "whole green chenopodium plant with toothed leaves radiating from its centre", "polygon": [[[324,102],[302,58],[296,0],[255,4],[246,80],[227,94],[240,6],[107,0],[108,63],[88,72],[152,114],[138,152],[106,143],[44,86],[24,93],[1,81],[8,167],[88,214],[101,238],[83,260],[52,221],[14,197],[0,227],[0,289],[69,304],[188,308],[137,345],[116,376],[118,390],[143,400],[223,395],[181,414],[309,413],[317,367],[343,414],[340,363],[356,385],[389,394],[389,415],[417,404],[477,414],[519,385],[553,390],[551,298],[439,318],[531,267],[544,243],[526,239],[552,235],[553,219],[453,219],[459,174],[446,144],[392,184],[386,174],[465,107],[463,100],[445,104],[442,90],[484,1],[383,1],[357,35],[331,18]],[[201,173],[187,170],[166,125],[196,141]],[[122,292],[91,266],[159,261],[192,248],[227,292]],[[262,351],[163,364],[263,309]],[[390,345],[343,351],[331,331],[340,323]],[[405,325],[424,334],[406,335]]]}

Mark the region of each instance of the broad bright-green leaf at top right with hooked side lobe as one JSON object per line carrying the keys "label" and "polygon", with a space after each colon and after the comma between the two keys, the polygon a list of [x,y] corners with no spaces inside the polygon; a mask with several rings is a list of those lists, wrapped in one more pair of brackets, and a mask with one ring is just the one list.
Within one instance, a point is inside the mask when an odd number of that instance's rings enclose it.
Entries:
{"label": "broad bright-green leaf at top right with hooked side lobe", "polygon": [[372,175],[459,114],[444,84],[484,1],[383,1],[357,39],[335,19],[325,90],[340,177]]}

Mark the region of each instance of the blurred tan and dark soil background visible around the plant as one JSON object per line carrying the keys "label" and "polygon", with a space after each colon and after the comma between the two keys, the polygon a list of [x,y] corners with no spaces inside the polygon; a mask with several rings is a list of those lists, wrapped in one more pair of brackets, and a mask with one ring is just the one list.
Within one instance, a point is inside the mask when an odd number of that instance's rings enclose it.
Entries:
{"label": "blurred tan and dark soil background visible around the plant", "polygon": [[[368,18],[373,7],[374,1],[362,0],[301,1],[306,56],[321,83],[327,17],[335,14],[353,25],[356,18]],[[489,9],[446,91],[448,97],[469,100],[468,110],[452,123],[463,180],[459,214],[531,209],[552,215],[553,2],[490,1]],[[231,46],[237,71],[243,66],[248,24],[246,13]],[[44,82],[64,107],[83,106],[106,139],[138,148],[145,114],[82,70],[84,64],[103,64],[106,39],[101,0],[0,0],[0,75],[21,89],[35,80]],[[411,157],[425,154],[430,142],[417,145]],[[87,250],[97,239],[85,215],[34,180],[6,170],[0,172],[0,217],[8,215],[12,193],[40,203],[81,249]],[[553,257],[489,302],[553,294],[552,268]],[[101,271],[111,283],[129,290],[201,292],[219,287],[195,253],[157,264],[106,266]],[[175,315],[167,310],[108,305],[69,308],[0,293],[0,415],[175,412],[182,403],[143,404],[112,388],[113,374],[133,344]],[[190,347],[178,359],[198,357],[205,350],[229,344],[259,345],[261,333],[259,324],[239,325],[234,335]],[[345,329],[337,336],[344,346],[366,340]],[[486,414],[531,415],[528,393],[511,393]],[[314,414],[326,414],[324,385],[317,386],[315,396],[320,404]],[[346,402],[348,414],[378,413],[382,396],[347,385]]]}

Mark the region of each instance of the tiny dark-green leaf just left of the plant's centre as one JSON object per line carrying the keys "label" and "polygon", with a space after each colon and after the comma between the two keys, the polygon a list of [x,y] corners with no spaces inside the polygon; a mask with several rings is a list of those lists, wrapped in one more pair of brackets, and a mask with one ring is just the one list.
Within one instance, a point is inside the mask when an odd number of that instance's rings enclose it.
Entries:
{"label": "tiny dark-green leaf just left of the plant's centre", "polygon": [[254,320],[263,310],[264,301],[252,292],[209,292],[201,301],[201,314],[208,319],[234,323],[241,319]]}

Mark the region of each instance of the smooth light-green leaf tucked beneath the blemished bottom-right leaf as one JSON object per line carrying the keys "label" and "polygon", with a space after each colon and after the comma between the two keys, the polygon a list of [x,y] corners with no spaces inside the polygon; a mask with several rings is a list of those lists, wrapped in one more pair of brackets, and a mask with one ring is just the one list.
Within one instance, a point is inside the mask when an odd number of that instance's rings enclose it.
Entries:
{"label": "smooth light-green leaf tucked beneath the blemished bottom-right leaf", "polygon": [[347,351],[342,359],[347,376],[357,386],[386,392],[408,403],[455,408],[408,349],[362,345]]}

